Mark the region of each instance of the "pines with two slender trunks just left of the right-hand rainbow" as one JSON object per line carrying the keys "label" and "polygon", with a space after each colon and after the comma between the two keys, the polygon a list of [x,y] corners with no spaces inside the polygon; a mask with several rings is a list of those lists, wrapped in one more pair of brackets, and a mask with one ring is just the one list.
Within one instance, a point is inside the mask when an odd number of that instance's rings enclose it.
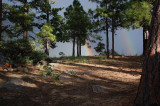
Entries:
{"label": "pines with two slender trunks just left of the right-hand rainbow", "polygon": [[[106,31],[106,49],[107,57],[109,57],[109,41],[108,41],[108,29],[111,28],[112,32],[112,58],[114,58],[114,35],[115,31],[123,27],[124,17],[122,13],[125,10],[124,5],[127,0],[90,0],[97,2],[99,7],[96,9],[98,15],[101,16],[98,20],[100,24],[99,31]],[[102,25],[103,24],[103,25]]]}

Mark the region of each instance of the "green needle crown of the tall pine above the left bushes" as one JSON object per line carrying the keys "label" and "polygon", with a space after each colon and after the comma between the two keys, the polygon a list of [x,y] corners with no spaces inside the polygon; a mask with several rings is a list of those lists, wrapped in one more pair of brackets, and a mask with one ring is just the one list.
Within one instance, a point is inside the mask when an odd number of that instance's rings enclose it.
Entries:
{"label": "green needle crown of the tall pine above the left bushes", "polygon": [[[9,0],[12,1],[12,0]],[[18,37],[24,31],[33,31],[35,13],[30,10],[30,2],[16,0],[14,4],[4,4],[4,20],[12,24],[5,26],[7,37]]]}

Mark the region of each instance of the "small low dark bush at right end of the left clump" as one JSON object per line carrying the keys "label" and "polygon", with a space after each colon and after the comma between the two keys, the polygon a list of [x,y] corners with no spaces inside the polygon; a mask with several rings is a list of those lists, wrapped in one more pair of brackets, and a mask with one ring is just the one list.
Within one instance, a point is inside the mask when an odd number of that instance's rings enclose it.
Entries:
{"label": "small low dark bush at right end of the left clump", "polygon": [[33,63],[37,63],[40,60],[44,60],[44,59],[47,59],[47,58],[48,58],[47,54],[45,54],[42,51],[35,51],[35,50],[29,56],[29,59],[32,60]]}

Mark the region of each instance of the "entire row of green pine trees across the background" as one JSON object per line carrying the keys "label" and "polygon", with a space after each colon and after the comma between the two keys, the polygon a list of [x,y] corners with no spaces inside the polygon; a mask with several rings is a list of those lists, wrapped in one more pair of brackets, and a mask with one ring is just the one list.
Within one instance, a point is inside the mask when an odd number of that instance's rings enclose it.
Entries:
{"label": "entire row of green pine trees across the background", "polygon": [[[86,12],[78,0],[73,0],[73,4],[66,8],[62,17],[58,12],[63,7],[54,8],[56,3],[54,0],[8,0],[7,3],[2,3],[1,0],[0,39],[38,38],[38,43],[43,44],[47,55],[50,47],[56,47],[56,42],[72,41],[72,56],[75,56],[75,45],[77,56],[81,56],[81,46],[85,45],[86,40],[95,33],[105,31],[106,55],[109,58],[109,31],[111,31],[114,58],[114,36],[117,29],[142,27],[144,35],[149,30],[152,8],[150,0],[89,1],[97,3],[95,10],[89,9]],[[39,29],[40,32],[35,32],[35,29]]]}

